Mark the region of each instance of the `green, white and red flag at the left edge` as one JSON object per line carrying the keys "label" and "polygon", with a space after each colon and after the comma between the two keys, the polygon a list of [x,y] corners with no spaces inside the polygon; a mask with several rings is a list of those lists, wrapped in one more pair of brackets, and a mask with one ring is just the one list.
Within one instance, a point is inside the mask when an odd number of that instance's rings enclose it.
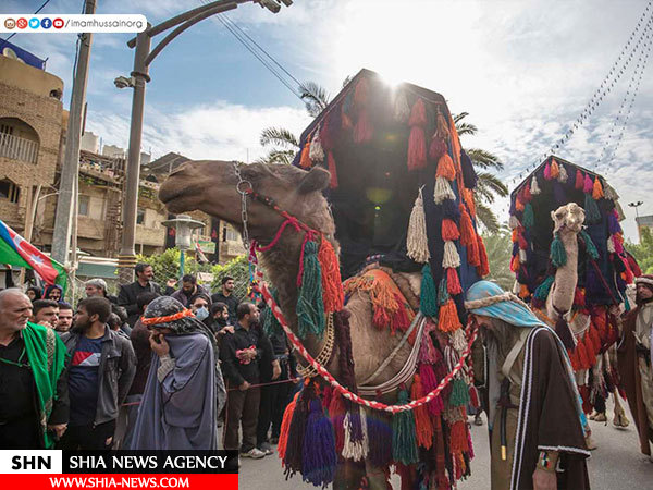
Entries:
{"label": "green, white and red flag at the left edge", "polygon": [[67,275],[61,264],[40,252],[0,220],[0,264],[34,269],[46,284],[59,284],[66,290]]}

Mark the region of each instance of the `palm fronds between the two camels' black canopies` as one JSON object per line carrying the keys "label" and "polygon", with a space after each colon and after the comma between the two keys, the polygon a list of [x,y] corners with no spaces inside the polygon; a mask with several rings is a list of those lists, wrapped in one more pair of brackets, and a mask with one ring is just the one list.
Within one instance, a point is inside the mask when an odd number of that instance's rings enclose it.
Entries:
{"label": "palm fronds between the two camels' black canopies", "polygon": [[[453,115],[456,131],[460,137],[466,135],[473,136],[478,132],[478,127],[475,124],[463,121],[468,115],[468,112],[460,112]],[[489,205],[494,203],[496,196],[506,197],[508,195],[508,187],[494,173],[489,172],[489,170],[501,171],[504,164],[496,155],[484,149],[468,148],[465,151],[477,169],[479,176],[475,191],[477,218],[490,233],[497,233],[500,230],[498,219]]]}

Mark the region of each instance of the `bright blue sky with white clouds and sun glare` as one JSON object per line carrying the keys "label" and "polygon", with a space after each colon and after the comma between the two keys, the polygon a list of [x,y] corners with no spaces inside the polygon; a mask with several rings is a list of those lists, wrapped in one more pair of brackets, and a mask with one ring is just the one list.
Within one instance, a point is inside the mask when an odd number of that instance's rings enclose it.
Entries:
{"label": "bright blue sky with white clouds and sun glare", "polygon": [[[98,0],[97,13],[140,13],[156,25],[202,1]],[[4,0],[0,13],[30,13],[41,3]],[[572,127],[648,3],[295,0],[278,14],[244,3],[226,15],[296,79],[313,81],[332,96],[361,68],[379,72],[391,84],[410,82],[442,94],[453,113],[469,112],[467,120],[479,128],[463,139],[464,147],[496,154],[505,164],[500,177],[513,188],[525,169]],[[82,5],[82,0],[51,0],[40,13],[79,13]],[[626,205],[642,200],[639,213],[653,213],[653,77],[650,66],[641,70],[648,52],[643,48],[653,42],[651,33],[653,26],[602,103],[556,150],[597,170],[616,188],[626,212],[621,225],[636,242],[634,210]],[[113,79],[131,71],[131,37],[94,36],[87,91],[87,130],[103,144],[125,148],[131,90],[116,89]],[[70,34],[24,33],[11,39],[48,58],[47,70],[64,81],[66,108],[75,40]],[[638,96],[628,111],[639,74]],[[150,76],[143,149],[153,158],[177,151],[194,159],[251,161],[266,154],[258,142],[262,128],[283,126],[299,134],[310,122],[303,102],[217,19],[176,38],[155,60]],[[607,158],[597,164],[602,154]],[[497,201],[494,209],[507,221],[507,200]]]}

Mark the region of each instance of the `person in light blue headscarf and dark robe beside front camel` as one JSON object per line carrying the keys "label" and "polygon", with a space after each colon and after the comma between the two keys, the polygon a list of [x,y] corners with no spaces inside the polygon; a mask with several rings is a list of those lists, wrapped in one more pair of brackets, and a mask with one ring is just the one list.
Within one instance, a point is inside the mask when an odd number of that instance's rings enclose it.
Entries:
{"label": "person in light blue headscarf and dark robe beside front camel", "polygon": [[465,307],[488,353],[492,489],[589,489],[587,420],[560,340],[490,281],[469,289]]}

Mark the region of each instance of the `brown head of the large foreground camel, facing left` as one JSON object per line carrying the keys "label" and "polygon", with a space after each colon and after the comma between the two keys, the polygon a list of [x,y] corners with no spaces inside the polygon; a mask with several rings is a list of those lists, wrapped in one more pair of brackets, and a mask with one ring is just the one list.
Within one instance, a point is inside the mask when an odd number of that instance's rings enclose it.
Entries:
{"label": "brown head of the large foreground camel, facing left", "polygon": [[[310,171],[288,164],[238,164],[241,175],[251,183],[259,195],[274,199],[284,211],[326,235],[333,235],[334,224],[322,189],[330,174],[321,168]],[[159,199],[173,213],[200,210],[243,231],[242,198],[233,162],[218,160],[189,161],[163,182]],[[242,184],[242,188],[245,184]],[[269,241],[283,221],[270,207],[247,198],[249,235]]]}

